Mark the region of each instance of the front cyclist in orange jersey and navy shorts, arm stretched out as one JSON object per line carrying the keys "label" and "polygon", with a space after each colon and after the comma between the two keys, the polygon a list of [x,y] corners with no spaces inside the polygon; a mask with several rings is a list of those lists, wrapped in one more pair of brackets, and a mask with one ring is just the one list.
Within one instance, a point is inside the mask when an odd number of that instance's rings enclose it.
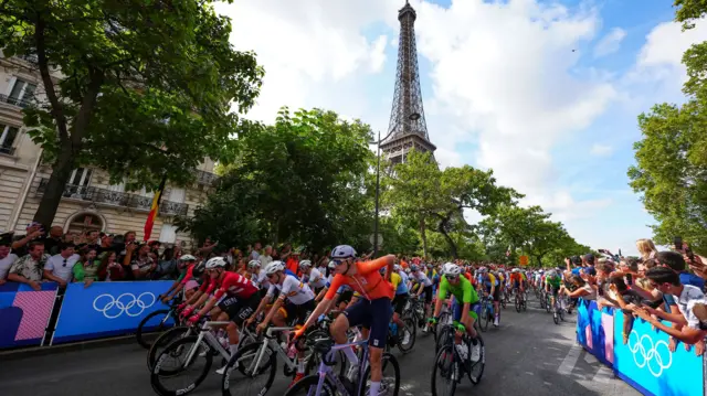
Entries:
{"label": "front cyclist in orange jersey and navy shorts, arm stretched out", "polygon": [[[392,286],[383,279],[379,270],[388,266],[387,274],[392,274],[395,256],[388,255],[372,261],[357,261],[356,250],[351,246],[340,245],[331,250],[331,259],[336,264],[334,269],[336,275],[331,280],[331,287],[321,303],[317,306],[314,313],[307,319],[305,325],[297,331],[296,336],[302,336],[305,328],[316,321],[328,309],[339,286],[349,285],[361,296],[357,303],[347,308],[344,314],[337,317],[330,329],[331,336],[338,344],[345,344],[347,343],[346,332],[349,328],[359,324],[363,327],[363,338],[369,335],[370,394],[378,395],[383,376],[381,358],[388,339],[388,323],[392,317],[391,300],[393,298]],[[351,365],[357,366],[359,362],[354,350],[345,347],[342,351],[351,362]]]}

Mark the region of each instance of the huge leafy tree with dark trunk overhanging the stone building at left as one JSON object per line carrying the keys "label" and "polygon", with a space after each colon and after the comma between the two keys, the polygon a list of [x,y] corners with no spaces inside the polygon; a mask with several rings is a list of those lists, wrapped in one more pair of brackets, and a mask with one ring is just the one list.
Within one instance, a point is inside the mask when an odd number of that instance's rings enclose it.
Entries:
{"label": "huge leafy tree with dark trunk overhanging the stone building at left", "polygon": [[35,221],[51,224],[77,165],[151,190],[165,175],[188,182],[204,157],[219,157],[240,126],[231,106],[252,106],[263,72],[233,50],[230,21],[211,4],[0,2],[4,56],[35,56],[45,94],[24,115],[53,169]]}

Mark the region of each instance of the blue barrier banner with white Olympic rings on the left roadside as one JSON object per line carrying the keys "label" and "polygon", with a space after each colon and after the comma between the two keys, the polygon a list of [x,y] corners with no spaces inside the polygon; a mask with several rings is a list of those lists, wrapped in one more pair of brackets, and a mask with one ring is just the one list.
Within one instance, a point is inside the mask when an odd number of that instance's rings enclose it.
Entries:
{"label": "blue barrier banner with white Olympic rings on the left roadside", "polygon": [[[171,285],[171,280],[94,282],[87,288],[84,283],[71,283],[64,295],[52,344],[129,334],[146,315],[168,308],[157,296]],[[155,327],[162,318],[155,318],[154,323],[148,324]],[[172,324],[171,320],[169,324]]]}

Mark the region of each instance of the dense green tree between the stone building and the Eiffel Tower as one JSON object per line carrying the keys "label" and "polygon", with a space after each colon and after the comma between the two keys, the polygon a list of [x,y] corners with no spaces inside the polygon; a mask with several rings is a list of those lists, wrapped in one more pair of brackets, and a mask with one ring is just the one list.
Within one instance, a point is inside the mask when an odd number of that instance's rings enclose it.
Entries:
{"label": "dense green tree between the stone building and the Eiffel Tower", "polygon": [[226,239],[214,235],[209,220],[233,216],[234,223],[257,220],[250,235],[275,243],[291,240],[316,250],[347,243],[368,250],[373,225],[370,137],[369,126],[344,121],[333,111],[283,108],[274,125],[239,136],[238,156],[223,169],[217,194],[192,220],[182,221],[183,227]]}

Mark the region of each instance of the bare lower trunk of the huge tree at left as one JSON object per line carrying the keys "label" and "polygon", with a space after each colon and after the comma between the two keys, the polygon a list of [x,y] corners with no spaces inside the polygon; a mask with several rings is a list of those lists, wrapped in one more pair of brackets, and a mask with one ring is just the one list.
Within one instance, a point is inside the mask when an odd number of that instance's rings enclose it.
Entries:
{"label": "bare lower trunk of the huge tree at left", "polygon": [[65,143],[52,164],[52,175],[49,178],[49,183],[44,189],[40,206],[34,213],[34,221],[41,223],[44,229],[49,229],[54,222],[56,208],[64,193],[64,186],[74,169],[74,159],[75,156],[72,153],[71,143]]}

